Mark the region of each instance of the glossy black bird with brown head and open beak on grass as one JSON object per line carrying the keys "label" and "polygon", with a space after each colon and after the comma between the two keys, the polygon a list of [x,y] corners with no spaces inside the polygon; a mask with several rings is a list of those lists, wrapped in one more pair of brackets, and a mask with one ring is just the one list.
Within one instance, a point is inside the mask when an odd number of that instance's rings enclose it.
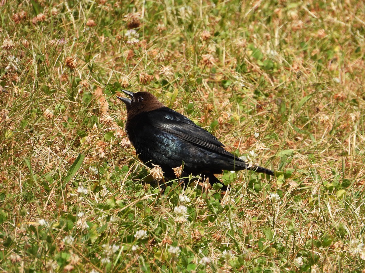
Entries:
{"label": "glossy black bird with brown head and open beak on grass", "polygon": [[[164,106],[154,95],[122,91],[131,97],[117,98],[127,106],[126,131],[132,145],[143,163],[160,165],[166,178],[174,178],[173,168],[183,162],[184,176],[201,174],[211,185],[221,183],[214,174],[222,170],[249,169],[274,175],[264,167],[249,168],[248,163],[226,151],[214,135]],[[223,185],[222,190],[226,189]]]}

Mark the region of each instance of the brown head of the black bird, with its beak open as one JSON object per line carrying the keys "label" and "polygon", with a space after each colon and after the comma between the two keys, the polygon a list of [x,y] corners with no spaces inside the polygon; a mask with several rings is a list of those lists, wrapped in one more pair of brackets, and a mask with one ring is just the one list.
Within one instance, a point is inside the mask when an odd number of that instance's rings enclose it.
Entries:
{"label": "brown head of the black bird, with its beak open", "polygon": [[149,92],[133,93],[123,89],[122,91],[131,97],[130,99],[117,97],[127,106],[127,119],[142,112],[149,112],[164,107],[164,104],[159,102],[158,99]]}

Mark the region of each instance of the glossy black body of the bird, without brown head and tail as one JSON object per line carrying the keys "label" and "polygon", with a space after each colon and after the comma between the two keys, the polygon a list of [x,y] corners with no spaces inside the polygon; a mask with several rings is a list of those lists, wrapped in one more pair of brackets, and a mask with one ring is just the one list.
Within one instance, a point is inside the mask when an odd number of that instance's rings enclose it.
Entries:
{"label": "glossy black body of the bird, without brown head and tail", "polygon": [[127,121],[127,134],[141,160],[187,172],[242,170],[246,163],[223,148],[214,135],[187,117],[162,107]]}

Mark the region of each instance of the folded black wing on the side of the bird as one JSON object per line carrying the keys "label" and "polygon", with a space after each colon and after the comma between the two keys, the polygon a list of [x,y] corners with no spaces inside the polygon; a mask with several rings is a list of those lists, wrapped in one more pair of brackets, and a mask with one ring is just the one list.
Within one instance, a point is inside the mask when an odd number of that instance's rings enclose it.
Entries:
{"label": "folded black wing on the side of the bird", "polygon": [[160,130],[176,135],[186,142],[215,151],[228,157],[233,154],[224,150],[224,145],[210,132],[197,126],[186,116],[164,107],[149,112],[149,123]]}

